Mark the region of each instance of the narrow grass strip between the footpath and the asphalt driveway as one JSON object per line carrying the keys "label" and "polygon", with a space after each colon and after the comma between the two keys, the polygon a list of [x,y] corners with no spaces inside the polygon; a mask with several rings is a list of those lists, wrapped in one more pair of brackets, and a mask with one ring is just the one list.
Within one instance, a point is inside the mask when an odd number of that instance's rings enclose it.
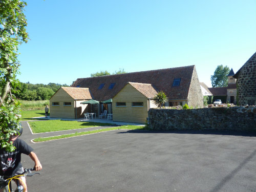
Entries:
{"label": "narrow grass strip between the footpath and the asphalt driveway", "polygon": [[99,132],[105,132],[105,131],[111,131],[111,130],[121,130],[121,129],[147,130],[144,126],[123,125],[123,126],[118,126],[118,127],[111,127],[111,128],[101,129],[101,130],[93,130],[93,131],[80,132],[80,133],[72,133],[72,134],[67,134],[67,135],[59,135],[59,136],[53,136],[53,137],[42,137],[42,138],[40,137],[40,138],[34,139],[33,141],[34,142],[43,142],[43,141],[63,139],[63,138],[69,138],[69,137],[77,137],[80,135],[88,135],[88,134],[93,134],[93,133],[99,133]]}

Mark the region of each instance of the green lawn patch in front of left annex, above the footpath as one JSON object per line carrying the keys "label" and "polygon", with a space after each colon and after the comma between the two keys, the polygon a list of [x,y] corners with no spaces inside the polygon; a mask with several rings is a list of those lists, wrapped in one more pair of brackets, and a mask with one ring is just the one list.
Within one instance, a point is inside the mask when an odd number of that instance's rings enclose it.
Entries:
{"label": "green lawn patch in front of left annex, above the footpath", "polygon": [[93,126],[110,125],[109,123],[78,122],[78,121],[64,121],[64,120],[31,121],[28,123],[33,133],[74,130],[74,129],[93,127]]}

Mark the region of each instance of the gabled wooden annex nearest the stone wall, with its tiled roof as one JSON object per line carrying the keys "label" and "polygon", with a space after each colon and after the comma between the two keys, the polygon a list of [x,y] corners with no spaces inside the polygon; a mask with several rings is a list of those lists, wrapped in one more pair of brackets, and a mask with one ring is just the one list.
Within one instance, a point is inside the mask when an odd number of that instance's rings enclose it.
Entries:
{"label": "gabled wooden annex nearest the stone wall, with its tiled roof", "polygon": [[127,82],[112,99],[113,120],[145,123],[147,111],[157,108],[153,102],[156,95],[152,84]]}

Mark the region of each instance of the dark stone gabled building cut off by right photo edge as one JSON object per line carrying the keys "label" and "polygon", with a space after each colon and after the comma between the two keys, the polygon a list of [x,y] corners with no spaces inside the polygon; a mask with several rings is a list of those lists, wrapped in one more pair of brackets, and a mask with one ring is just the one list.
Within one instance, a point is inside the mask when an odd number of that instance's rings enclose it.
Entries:
{"label": "dark stone gabled building cut off by right photo edge", "polygon": [[237,79],[238,103],[241,105],[256,104],[256,52],[233,75]]}

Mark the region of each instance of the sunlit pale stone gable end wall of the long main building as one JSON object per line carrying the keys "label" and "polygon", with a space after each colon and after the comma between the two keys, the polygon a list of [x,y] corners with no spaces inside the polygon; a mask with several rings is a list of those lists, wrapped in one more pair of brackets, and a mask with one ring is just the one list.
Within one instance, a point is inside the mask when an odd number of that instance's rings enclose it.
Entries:
{"label": "sunlit pale stone gable end wall of the long main building", "polygon": [[189,106],[193,106],[194,108],[204,107],[203,93],[200,87],[200,82],[198,79],[196,68],[194,68],[193,75],[191,77],[191,83],[190,83],[187,99],[188,99],[187,104]]}

